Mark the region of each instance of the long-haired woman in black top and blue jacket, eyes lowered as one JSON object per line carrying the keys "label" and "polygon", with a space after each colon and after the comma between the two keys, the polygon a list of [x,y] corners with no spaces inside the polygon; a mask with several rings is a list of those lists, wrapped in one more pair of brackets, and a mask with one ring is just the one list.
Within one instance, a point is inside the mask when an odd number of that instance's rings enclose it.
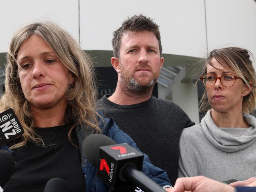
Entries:
{"label": "long-haired woman in black top and blue jacket, eyes lowered", "polygon": [[[0,111],[13,108],[25,133],[0,147],[16,161],[4,191],[42,192],[54,177],[64,179],[69,192],[108,191],[82,152],[85,133],[136,145],[113,119],[95,111],[93,65],[69,33],[51,22],[20,28],[11,39],[5,78]],[[169,185],[166,172],[154,167],[147,155],[143,172]]]}

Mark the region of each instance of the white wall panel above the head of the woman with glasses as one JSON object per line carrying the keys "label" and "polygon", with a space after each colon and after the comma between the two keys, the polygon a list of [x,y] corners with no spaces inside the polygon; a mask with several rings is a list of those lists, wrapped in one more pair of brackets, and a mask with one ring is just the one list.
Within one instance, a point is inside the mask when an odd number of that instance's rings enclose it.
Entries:
{"label": "white wall panel above the head of the woman with glasses", "polygon": [[239,46],[256,57],[254,0],[206,0],[206,21],[209,50]]}

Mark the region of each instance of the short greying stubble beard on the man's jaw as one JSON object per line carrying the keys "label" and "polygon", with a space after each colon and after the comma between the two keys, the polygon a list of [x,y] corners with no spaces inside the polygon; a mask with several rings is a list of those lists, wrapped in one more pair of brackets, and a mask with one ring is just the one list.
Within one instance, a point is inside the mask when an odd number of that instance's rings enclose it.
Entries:
{"label": "short greying stubble beard on the man's jaw", "polygon": [[[121,78],[121,89],[123,91],[128,91],[131,94],[135,94],[135,95],[145,95],[145,94],[151,94],[154,85],[156,84],[157,78],[159,76],[159,73],[155,76],[153,75],[152,79],[144,84],[141,83],[143,85],[141,85],[139,83],[139,81],[137,81],[134,78],[134,73],[130,74],[124,67],[123,65],[120,63],[120,78]],[[144,66],[140,66],[140,67],[144,67]],[[147,76],[147,74],[141,74],[141,76]]]}

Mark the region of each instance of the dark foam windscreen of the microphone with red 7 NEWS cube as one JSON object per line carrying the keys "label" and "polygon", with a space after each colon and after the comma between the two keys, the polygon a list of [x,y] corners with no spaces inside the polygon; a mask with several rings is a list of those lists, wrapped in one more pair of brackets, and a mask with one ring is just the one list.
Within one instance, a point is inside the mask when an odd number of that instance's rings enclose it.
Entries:
{"label": "dark foam windscreen of the microphone with red 7 NEWS cube", "polygon": [[95,167],[98,164],[99,148],[102,146],[117,144],[106,135],[92,134],[85,138],[83,142],[83,152],[88,161]]}

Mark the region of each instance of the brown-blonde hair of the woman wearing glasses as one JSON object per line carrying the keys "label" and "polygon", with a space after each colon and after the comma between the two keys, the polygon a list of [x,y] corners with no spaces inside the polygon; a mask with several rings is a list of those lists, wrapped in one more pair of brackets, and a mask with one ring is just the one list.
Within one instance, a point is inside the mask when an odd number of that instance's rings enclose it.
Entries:
{"label": "brown-blonde hair of the woman wearing glasses", "polygon": [[[252,65],[252,60],[250,59],[250,55],[252,54],[243,48],[239,47],[227,47],[221,49],[215,49],[210,52],[210,55],[202,60],[202,70],[198,75],[198,81],[200,80],[200,76],[203,76],[207,73],[207,65],[211,65],[211,59],[215,58],[222,66],[226,68],[230,68],[232,71],[236,73],[236,76],[243,79],[244,83],[249,87],[249,82],[252,81],[252,89],[250,93],[243,97],[243,113],[250,113],[256,107],[256,77],[254,66]],[[204,113],[211,109],[211,106],[208,102],[206,90],[204,90],[204,94],[200,101],[200,113]]]}

